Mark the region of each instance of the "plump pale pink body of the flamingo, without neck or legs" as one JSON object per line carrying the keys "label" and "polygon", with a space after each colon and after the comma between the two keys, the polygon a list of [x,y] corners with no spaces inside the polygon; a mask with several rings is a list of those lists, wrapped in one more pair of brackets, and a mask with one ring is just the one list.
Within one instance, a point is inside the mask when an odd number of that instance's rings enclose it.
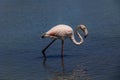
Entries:
{"label": "plump pale pink body of the flamingo, without neck or legs", "polygon": [[73,30],[70,26],[61,24],[51,28],[48,32],[45,33],[45,36],[63,40],[67,37],[70,37],[72,34],[73,34]]}

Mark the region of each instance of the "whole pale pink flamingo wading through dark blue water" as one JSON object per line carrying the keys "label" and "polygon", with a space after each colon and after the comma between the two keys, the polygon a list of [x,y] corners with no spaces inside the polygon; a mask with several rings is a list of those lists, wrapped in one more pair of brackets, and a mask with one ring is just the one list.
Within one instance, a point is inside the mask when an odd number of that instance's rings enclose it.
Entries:
{"label": "whole pale pink flamingo wading through dark blue water", "polygon": [[[73,31],[73,29],[68,26],[68,25],[65,25],[65,24],[58,24],[56,26],[54,26],[53,28],[51,28],[49,31],[47,31],[46,33],[43,33],[41,38],[53,38],[53,41],[50,42],[43,50],[42,50],[42,53],[43,53],[43,56],[46,57],[45,55],[45,51],[46,49],[53,43],[55,42],[57,39],[60,39],[62,41],[62,47],[61,47],[61,50],[62,50],[62,54],[61,56],[63,56],[63,45],[64,45],[64,40],[66,38],[70,38],[70,40],[75,44],[75,45],[81,45],[83,43],[83,38],[82,36],[79,34],[78,30],[81,29],[83,32],[84,32],[84,37],[86,38],[87,35],[88,35],[88,30],[86,28],[85,25],[78,25],[75,29],[75,31]],[[75,40],[75,37],[74,37],[74,34],[77,34],[78,37],[80,38],[80,41],[76,41]]]}

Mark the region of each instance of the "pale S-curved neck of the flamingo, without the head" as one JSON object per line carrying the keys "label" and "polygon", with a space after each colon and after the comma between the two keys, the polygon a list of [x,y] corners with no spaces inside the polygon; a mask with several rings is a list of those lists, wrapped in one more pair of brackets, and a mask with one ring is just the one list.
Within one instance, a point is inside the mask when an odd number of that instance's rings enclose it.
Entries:
{"label": "pale S-curved neck of the flamingo, without the head", "polygon": [[79,27],[76,28],[75,33],[76,33],[76,34],[78,35],[78,37],[80,38],[80,41],[76,41],[76,40],[75,40],[74,33],[73,33],[73,35],[71,36],[71,40],[72,40],[72,42],[73,42],[75,45],[81,45],[81,44],[83,43],[83,38],[82,38],[82,36],[79,34],[78,29],[79,29]]}

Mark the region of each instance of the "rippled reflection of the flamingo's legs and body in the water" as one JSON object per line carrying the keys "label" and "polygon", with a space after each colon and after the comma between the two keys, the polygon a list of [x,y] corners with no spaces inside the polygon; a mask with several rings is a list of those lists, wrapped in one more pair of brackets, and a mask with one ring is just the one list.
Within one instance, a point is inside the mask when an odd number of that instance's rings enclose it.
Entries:
{"label": "rippled reflection of the flamingo's legs and body in the water", "polygon": [[61,57],[61,71],[55,71],[51,67],[52,65],[48,65],[46,58],[43,60],[43,66],[50,74],[54,75],[54,77],[47,80],[91,80],[87,70],[81,65],[77,65],[71,72],[67,72],[64,65],[64,57]]}

